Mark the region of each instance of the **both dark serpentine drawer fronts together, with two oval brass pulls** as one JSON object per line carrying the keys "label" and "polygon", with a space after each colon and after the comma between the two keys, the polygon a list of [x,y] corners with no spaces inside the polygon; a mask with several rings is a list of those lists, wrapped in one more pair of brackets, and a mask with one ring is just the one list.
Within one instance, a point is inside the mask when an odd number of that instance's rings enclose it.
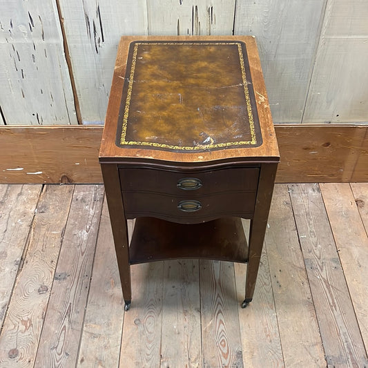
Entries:
{"label": "both dark serpentine drawer fronts together, with two oval brass pulls", "polygon": [[127,218],[151,216],[195,224],[218,217],[251,218],[259,168],[223,168],[190,175],[152,168],[120,168]]}

